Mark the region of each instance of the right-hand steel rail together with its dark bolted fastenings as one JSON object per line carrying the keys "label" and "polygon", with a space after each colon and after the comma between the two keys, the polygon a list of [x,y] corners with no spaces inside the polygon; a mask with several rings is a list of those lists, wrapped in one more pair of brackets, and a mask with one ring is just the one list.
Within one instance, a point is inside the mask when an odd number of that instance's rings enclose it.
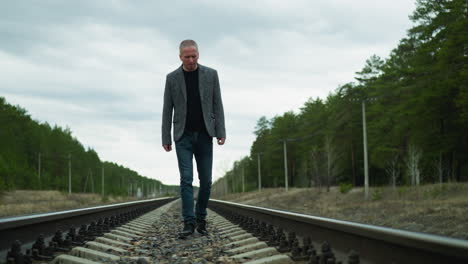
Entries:
{"label": "right-hand steel rail together with its dark bolted fastenings", "polygon": [[466,240],[217,200],[210,207],[293,259],[307,253],[309,263],[468,263]]}

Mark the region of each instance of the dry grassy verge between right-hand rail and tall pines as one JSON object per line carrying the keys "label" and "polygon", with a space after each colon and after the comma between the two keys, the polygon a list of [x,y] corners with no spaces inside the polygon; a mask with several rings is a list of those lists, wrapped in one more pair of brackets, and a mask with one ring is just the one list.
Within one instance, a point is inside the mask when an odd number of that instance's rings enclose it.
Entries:
{"label": "dry grassy verge between right-hand rail and tall pines", "polygon": [[220,199],[289,210],[315,216],[468,239],[468,184],[425,185],[418,188],[362,188],[341,193],[316,188],[266,189]]}

